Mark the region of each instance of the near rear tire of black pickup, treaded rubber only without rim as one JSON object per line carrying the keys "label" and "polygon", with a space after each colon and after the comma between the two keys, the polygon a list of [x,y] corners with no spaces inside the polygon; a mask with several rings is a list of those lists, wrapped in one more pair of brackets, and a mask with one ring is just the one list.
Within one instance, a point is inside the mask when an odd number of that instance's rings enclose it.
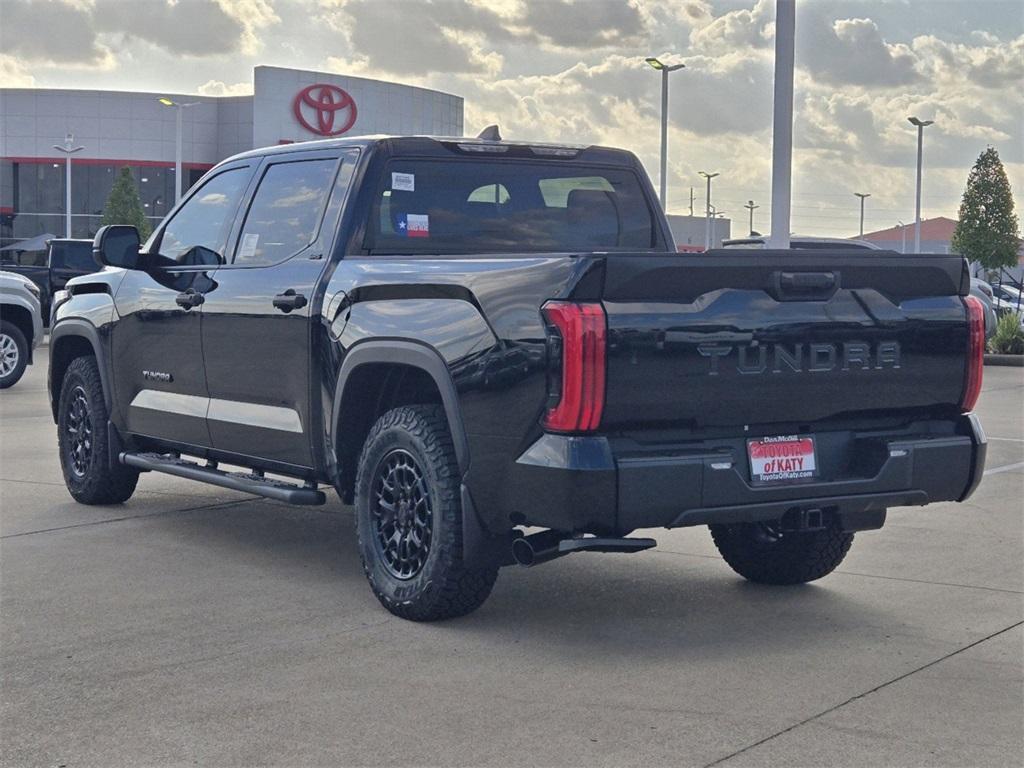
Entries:
{"label": "near rear tire of black pickup, treaded rubber only without rim", "polygon": [[[422,470],[431,510],[430,545],[422,566],[400,579],[385,561],[378,539],[375,483],[396,452],[415,459]],[[462,502],[455,446],[439,406],[406,406],[388,411],[364,443],[355,476],[355,531],[362,570],[381,604],[396,616],[433,622],[478,608],[498,579],[497,563],[463,564]]]}

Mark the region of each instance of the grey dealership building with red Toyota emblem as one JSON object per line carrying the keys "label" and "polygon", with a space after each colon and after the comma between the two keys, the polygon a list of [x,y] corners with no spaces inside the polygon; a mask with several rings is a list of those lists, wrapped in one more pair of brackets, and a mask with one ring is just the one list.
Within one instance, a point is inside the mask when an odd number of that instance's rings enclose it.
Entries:
{"label": "grey dealership building with red Toyota emblem", "polygon": [[0,246],[65,232],[65,153],[74,137],[72,236],[99,226],[131,169],[154,223],[174,205],[177,114],[183,188],[240,152],[373,133],[463,134],[463,99],[379,80],[257,67],[251,96],[0,88]]}

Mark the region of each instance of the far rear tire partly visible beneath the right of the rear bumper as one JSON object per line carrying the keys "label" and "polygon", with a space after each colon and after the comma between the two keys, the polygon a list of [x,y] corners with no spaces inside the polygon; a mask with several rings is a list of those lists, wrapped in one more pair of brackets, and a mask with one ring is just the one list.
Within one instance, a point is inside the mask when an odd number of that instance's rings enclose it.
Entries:
{"label": "far rear tire partly visible beneath the right of the rear bumper", "polygon": [[715,546],[729,566],[758,584],[805,584],[831,573],[853,544],[853,534],[828,527],[778,531],[766,523],[710,525]]}

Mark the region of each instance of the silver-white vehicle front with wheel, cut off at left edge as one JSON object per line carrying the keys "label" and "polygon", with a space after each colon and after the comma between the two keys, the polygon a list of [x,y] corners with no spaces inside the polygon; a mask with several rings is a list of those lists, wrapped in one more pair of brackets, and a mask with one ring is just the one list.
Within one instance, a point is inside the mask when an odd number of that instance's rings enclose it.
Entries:
{"label": "silver-white vehicle front with wheel, cut off at left edge", "polygon": [[20,274],[0,271],[0,389],[17,383],[42,340],[39,287]]}

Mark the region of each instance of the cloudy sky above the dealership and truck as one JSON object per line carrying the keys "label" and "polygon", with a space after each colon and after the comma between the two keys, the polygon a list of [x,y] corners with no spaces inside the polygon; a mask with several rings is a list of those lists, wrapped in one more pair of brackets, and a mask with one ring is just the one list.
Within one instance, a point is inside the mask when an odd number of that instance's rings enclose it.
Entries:
{"label": "cloudy sky above the dealership and truck", "polygon": [[[425,85],[466,99],[466,130],[625,146],[655,176],[660,55],[672,75],[669,208],[700,170],[768,228],[774,0],[0,0],[5,86],[251,91],[257,63]],[[794,229],[856,233],[956,214],[987,144],[1024,203],[1024,0],[801,0]],[[737,215],[738,214],[738,215]],[[734,225],[739,232],[742,225]]]}

